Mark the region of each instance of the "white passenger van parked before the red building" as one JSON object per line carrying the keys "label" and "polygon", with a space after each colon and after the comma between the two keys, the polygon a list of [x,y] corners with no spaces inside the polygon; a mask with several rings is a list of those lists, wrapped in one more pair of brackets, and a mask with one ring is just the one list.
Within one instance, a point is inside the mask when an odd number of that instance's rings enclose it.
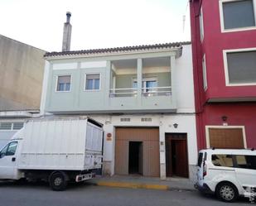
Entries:
{"label": "white passenger van parked before the red building", "polygon": [[239,196],[256,198],[256,151],[207,149],[199,151],[195,187],[225,202]]}

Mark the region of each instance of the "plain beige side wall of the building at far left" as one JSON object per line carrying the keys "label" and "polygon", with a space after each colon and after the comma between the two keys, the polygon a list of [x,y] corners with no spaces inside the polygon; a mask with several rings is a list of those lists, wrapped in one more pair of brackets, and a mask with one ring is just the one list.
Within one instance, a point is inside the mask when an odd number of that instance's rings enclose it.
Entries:
{"label": "plain beige side wall of the building at far left", "polygon": [[0,35],[0,111],[40,108],[45,53]]}

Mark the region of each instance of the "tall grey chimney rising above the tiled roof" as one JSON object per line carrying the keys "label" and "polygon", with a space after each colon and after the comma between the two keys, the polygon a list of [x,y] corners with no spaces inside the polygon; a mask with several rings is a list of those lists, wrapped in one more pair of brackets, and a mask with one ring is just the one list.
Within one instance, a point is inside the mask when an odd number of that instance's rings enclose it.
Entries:
{"label": "tall grey chimney rising above the tiled roof", "polygon": [[63,28],[63,40],[62,40],[62,51],[70,50],[71,31],[72,26],[70,24],[71,12],[66,12],[66,22]]}

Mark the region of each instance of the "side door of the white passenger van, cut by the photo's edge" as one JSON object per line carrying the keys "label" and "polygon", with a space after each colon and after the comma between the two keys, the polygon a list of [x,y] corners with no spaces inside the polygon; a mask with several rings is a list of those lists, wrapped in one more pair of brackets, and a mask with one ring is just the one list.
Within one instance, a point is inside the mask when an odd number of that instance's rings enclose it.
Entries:
{"label": "side door of the white passenger van, cut by the photo's edge", "polygon": [[256,189],[256,156],[236,155],[235,175],[243,187]]}

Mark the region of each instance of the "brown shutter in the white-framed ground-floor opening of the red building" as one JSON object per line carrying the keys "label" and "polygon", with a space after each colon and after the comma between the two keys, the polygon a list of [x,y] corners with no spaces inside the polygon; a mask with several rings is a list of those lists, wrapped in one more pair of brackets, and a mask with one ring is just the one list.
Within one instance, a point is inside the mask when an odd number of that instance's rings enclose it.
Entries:
{"label": "brown shutter in the white-framed ground-floor opening of the red building", "polygon": [[209,128],[210,147],[222,149],[244,148],[242,128]]}

